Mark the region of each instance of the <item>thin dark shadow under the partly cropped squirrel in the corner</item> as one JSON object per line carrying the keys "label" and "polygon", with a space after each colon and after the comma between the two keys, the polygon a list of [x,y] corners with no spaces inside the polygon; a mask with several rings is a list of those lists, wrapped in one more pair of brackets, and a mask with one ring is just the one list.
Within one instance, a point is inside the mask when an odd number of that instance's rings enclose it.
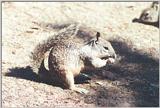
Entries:
{"label": "thin dark shadow under the partly cropped squirrel in the corner", "polygon": [[154,26],[154,27],[157,27],[159,28],[159,21],[158,22],[155,22],[155,23],[150,23],[150,22],[143,22],[141,21],[140,19],[138,18],[134,18],[132,20],[133,23],[141,23],[141,24],[146,24],[146,25],[150,25],[150,26]]}

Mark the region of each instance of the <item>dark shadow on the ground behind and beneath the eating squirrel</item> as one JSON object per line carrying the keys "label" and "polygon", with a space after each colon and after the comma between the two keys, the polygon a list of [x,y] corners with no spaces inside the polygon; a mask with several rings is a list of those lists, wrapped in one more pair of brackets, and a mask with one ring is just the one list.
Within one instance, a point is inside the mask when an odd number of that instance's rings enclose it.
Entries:
{"label": "dark shadow on the ground behind and beneath the eating squirrel", "polygon": [[[44,66],[43,62],[41,66]],[[34,81],[37,83],[44,83],[52,86],[59,86],[59,87],[65,88],[57,79],[49,77],[50,74],[48,70],[46,70],[44,67],[41,67],[40,69],[41,71],[38,74],[36,74],[35,72],[33,72],[32,67],[30,66],[15,67],[15,68],[9,69],[9,72],[5,73],[4,75],[8,77],[16,77],[20,79]],[[46,77],[42,78],[39,75],[46,76]],[[88,83],[87,82],[88,80],[90,80],[90,77],[83,74],[80,74],[77,77],[75,77],[76,84]]]}

